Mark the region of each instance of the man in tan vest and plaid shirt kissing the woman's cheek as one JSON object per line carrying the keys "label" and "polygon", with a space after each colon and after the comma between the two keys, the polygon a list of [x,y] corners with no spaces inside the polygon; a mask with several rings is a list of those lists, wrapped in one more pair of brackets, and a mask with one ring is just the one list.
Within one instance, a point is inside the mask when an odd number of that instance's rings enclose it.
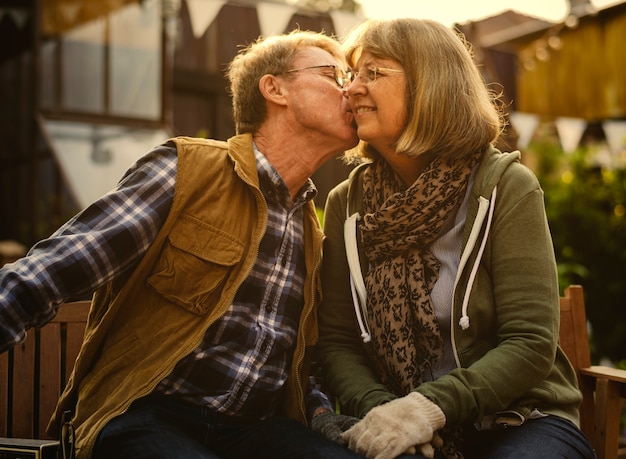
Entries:
{"label": "man in tan vest and plaid shirt kissing the woman's cheek", "polygon": [[323,34],[251,44],[228,70],[235,137],[170,139],[0,270],[3,351],[95,292],[50,424],[65,418],[76,457],[361,457],[305,425],[322,241],[310,176],[357,144],[344,69]]}

